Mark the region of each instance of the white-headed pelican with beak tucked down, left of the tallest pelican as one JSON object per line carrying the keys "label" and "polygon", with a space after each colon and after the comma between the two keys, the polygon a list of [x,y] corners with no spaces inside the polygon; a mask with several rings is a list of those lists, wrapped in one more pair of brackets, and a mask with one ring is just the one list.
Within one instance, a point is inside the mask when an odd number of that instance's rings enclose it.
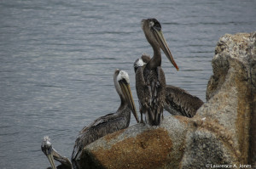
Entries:
{"label": "white-headed pelican with beak tucked down, left of the tallest pelican", "polygon": [[115,70],[113,74],[113,83],[121,99],[119,109],[113,113],[104,115],[96,121],[93,121],[88,127],[84,127],[76,139],[72,160],[79,161],[80,155],[85,145],[102,138],[108,133],[116,132],[129,126],[131,111],[137,122],[138,116],[134,101],[131,95],[130,80],[124,70]]}

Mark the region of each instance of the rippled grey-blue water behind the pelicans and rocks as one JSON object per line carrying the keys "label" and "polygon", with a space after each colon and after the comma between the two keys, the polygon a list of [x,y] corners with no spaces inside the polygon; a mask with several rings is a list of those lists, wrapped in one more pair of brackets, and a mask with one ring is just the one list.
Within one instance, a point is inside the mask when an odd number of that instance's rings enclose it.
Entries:
{"label": "rippled grey-blue water behind the pelicans and rocks", "polygon": [[180,68],[163,55],[166,82],[206,101],[218,38],[255,31],[255,7],[253,0],[2,0],[0,168],[48,167],[40,149],[44,135],[70,157],[79,130],[117,110],[117,68],[129,73],[137,104],[133,62],[152,54],[144,18],[160,20]]}

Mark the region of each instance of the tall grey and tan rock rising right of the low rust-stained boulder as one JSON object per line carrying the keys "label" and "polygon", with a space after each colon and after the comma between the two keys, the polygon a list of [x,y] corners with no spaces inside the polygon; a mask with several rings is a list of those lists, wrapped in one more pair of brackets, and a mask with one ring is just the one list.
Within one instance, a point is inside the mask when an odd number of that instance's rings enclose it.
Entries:
{"label": "tall grey and tan rock rising right of the low rust-stained boulder", "polygon": [[227,34],[219,39],[207,103],[192,119],[196,127],[187,133],[181,168],[255,164],[255,65],[255,33]]}

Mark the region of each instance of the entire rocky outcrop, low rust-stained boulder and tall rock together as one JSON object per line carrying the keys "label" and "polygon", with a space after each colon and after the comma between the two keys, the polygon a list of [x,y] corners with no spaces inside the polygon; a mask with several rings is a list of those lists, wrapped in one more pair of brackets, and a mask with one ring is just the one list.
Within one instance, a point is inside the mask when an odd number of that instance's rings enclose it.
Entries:
{"label": "entire rocky outcrop, low rust-stained boulder and tall rock together", "polygon": [[166,117],[160,127],[137,124],[109,134],[84,147],[80,165],[83,168],[253,167],[255,39],[256,33],[224,35],[219,39],[212,59],[207,103],[193,118],[173,115]]}

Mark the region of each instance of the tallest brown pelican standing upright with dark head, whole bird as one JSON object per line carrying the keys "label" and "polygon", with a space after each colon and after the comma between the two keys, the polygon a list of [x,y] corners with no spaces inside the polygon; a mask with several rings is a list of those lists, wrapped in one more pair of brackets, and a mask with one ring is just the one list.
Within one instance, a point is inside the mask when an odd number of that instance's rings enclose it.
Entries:
{"label": "tallest brown pelican standing upright with dark head, whole bird", "polygon": [[166,100],[166,77],[160,67],[160,49],[164,51],[166,57],[177,70],[178,67],[166,44],[160,22],[155,19],[142,20],[142,28],[145,37],[154,50],[154,55],[147,65],[138,68],[136,73],[136,89],[140,104],[141,122],[143,122],[143,114],[145,114],[146,122],[150,126],[158,126],[163,118],[162,114]]}

